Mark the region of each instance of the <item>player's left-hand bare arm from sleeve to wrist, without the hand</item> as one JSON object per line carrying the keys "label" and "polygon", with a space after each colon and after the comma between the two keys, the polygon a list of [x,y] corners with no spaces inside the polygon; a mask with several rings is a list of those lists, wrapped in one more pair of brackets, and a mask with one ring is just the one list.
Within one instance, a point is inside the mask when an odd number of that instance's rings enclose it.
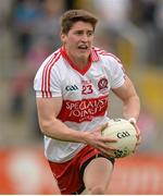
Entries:
{"label": "player's left-hand bare arm from sleeve to wrist, without the hand", "polygon": [[62,98],[37,98],[38,117],[41,132],[55,139],[85,143],[82,134],[71,130],[57,119],[62,107]]}

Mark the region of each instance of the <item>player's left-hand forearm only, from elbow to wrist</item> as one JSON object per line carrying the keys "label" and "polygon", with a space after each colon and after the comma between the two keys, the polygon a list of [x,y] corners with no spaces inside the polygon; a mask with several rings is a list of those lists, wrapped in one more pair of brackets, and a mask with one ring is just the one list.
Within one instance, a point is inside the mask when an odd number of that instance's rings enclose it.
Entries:
{"label": "player's left-hand forearm only, from elbow to wrist", "polygon": [[40,122],[40,128],[45,135],[54,139],[84,144],[86,143],[85,132],[72,130],[58,119],[48,122]]}

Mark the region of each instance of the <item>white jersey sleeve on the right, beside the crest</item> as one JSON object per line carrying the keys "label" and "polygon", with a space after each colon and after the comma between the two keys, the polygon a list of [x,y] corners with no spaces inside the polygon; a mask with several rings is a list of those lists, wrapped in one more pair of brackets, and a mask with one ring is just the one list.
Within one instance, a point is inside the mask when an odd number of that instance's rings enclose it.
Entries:
{"label": "white jersey sleeve on the right, beside the crest", "polygon": [[118,88],[125,82],[125,73],[120,60],[110,59],[111,88]]}

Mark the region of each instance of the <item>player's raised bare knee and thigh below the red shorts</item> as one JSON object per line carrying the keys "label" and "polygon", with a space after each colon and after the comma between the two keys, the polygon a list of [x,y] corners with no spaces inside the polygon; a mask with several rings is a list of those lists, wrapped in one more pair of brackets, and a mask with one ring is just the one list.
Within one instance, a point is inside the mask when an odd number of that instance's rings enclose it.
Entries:
{"label": "player's raised bare knee and thigh below the red shorts", "polygon": [[108,187],[113,171],[113,163],[103,157],[92,159],[84,172],[84,183],[86,188],[95,186]]}

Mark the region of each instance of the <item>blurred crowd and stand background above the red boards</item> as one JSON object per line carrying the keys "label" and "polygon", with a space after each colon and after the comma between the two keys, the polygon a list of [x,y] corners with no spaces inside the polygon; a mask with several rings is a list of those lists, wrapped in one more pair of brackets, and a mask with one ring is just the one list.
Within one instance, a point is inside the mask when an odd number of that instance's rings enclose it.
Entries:
{"label": "blurred crowd and stand background above the red boards", "polygon": [[[140,96],[138,154],[162,154],[162,0],[0,0],[0,148],[42,146],[33,79],[60,47],[59,21],[68,9],[99,17],[95,46],[122,60]],[[111,117],[122,115],[117,101],[111,94]]]}

